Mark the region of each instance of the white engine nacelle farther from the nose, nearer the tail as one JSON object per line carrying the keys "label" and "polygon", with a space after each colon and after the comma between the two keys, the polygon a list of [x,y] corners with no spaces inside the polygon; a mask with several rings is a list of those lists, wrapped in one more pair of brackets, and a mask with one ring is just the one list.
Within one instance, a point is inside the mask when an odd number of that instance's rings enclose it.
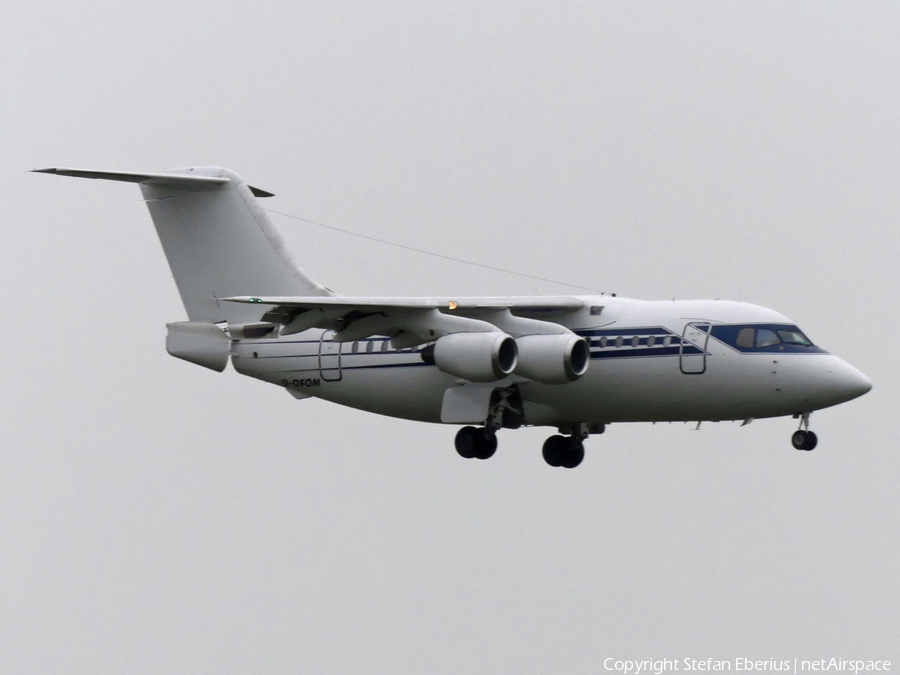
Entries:
{"label": "white engine nacelle farther from the nose, nearer the tail", "polygon": [[453,333],[423,350],[422,360],[472,382],[496,382],[516,369],[516,341],[505,333]]}

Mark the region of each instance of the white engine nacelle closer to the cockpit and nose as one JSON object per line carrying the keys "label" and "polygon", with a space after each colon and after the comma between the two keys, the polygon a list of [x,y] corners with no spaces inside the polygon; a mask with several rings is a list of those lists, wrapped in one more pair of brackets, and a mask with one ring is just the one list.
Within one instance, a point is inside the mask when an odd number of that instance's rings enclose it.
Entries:
{"label": "white engine nacelle closer to the cockpit and nose", "polygon": [[577,335],[525,335],[516,338],[516,346],[516,375],[542,384],[574,382],[591,361],[588,341]]}

